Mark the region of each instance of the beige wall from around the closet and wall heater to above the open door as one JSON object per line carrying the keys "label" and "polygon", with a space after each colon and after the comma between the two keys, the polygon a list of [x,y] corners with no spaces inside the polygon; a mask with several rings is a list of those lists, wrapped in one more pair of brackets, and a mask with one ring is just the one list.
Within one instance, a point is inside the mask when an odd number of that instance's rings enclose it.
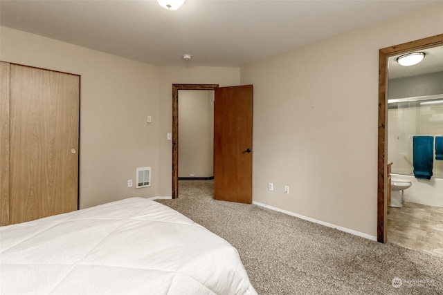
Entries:
{"label": "beige wall from around the closet and wall heater to above the open door", "polygon": [[[239,68],[159,68],[5,27],[0,60],[80,75],[80,208],[171,196],[172,83],[239,84]],[[143,166],[152,186],[127,187]]]}

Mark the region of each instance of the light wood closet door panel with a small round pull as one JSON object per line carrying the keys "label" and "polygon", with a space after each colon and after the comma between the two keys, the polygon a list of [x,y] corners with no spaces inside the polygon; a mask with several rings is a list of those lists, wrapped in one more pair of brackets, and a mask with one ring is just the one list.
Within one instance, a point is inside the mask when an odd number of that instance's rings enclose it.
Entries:
{"label": "light wood closet door panel with a small round pull", "polygon": [[10,224],[78,209],[80,77],[10,65]]}

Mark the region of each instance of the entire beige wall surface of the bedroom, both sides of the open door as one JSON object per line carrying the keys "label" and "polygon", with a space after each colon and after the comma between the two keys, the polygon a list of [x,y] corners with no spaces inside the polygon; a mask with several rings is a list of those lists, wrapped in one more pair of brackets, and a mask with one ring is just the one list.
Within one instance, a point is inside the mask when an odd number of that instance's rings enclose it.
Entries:
{"label": "entire beige wall surface of the bedroom, both sides of the open door", "polygon": [[[3,27],[0,59],[81,75],[81,207],[171,196],[172,84],[253,84],[253,200],[376,236],[379,48],[441,34],[442,15],[437,3],[241,70],[158,68]],[[127,188],[137,166],[152,187]]]}

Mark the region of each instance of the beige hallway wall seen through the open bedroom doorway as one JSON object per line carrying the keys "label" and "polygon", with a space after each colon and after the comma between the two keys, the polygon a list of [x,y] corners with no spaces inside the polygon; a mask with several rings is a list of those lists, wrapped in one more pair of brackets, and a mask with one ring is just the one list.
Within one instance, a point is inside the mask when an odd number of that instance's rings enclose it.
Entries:
{"label": "beige hallway wall seen through the open bedroom doorway", "polygon": [[179,177],[214,176],[214,91],[179,97]]}

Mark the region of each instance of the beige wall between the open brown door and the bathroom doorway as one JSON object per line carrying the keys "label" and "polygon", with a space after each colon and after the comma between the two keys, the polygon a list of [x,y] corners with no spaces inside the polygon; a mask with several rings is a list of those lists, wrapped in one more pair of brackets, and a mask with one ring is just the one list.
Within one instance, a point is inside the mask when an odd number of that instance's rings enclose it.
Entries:
{"label": "beige wall between the open brown door and the bathroom doorway", "polygon": [[253,200],[377,236],[379,49],[441,34],[442,15],[440,3],[242,67]]}

